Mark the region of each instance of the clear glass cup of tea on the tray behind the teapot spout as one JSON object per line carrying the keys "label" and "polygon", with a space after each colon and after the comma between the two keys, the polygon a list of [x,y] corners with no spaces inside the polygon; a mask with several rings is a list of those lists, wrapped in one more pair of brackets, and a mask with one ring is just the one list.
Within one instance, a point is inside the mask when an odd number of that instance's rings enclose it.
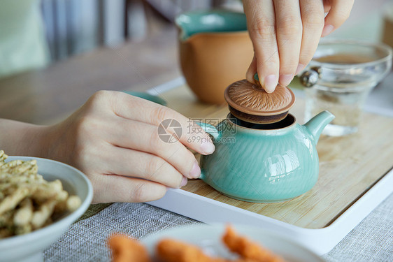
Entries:
{"label": "clear glass cup of tea on the tray behind the teapot spout", "polygon": [[329,40],[318,45],[300,82],[306,88],[305,120],[323,110],[336,118],[324,129],[345,136],[359,129],[366,97],[392,68],[392,48],[383,43]]}

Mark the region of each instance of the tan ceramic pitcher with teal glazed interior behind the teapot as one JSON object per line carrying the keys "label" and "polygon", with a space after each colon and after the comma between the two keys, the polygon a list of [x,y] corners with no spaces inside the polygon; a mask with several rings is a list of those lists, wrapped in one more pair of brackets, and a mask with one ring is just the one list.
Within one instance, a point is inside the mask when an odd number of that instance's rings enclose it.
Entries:
{"label": "tan ceramic pitcher with teal glazed interior behind the teapot", "polygon": [[225,88],[244,78],[254,54],[245,15],[229,10],[183,13],[176,25],[187,84],[199,100],[224,103]]}

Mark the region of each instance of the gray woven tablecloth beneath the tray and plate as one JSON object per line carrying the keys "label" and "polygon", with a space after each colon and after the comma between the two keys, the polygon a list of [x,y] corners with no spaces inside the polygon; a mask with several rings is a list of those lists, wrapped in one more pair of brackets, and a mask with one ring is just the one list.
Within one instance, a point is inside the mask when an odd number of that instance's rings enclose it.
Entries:
{"label": "gray woven tablecloth beneath the tray and plate", "polygon": [[[100,209],[97,214],[97,208]],[[142,238],[165,228],[200,223],[144,203],[92,207],[44,252],[45,261],[109,261],[106,240],[124,232]],[[393,261],[393,194],[373,210],[328,254],[326,261]]]}

